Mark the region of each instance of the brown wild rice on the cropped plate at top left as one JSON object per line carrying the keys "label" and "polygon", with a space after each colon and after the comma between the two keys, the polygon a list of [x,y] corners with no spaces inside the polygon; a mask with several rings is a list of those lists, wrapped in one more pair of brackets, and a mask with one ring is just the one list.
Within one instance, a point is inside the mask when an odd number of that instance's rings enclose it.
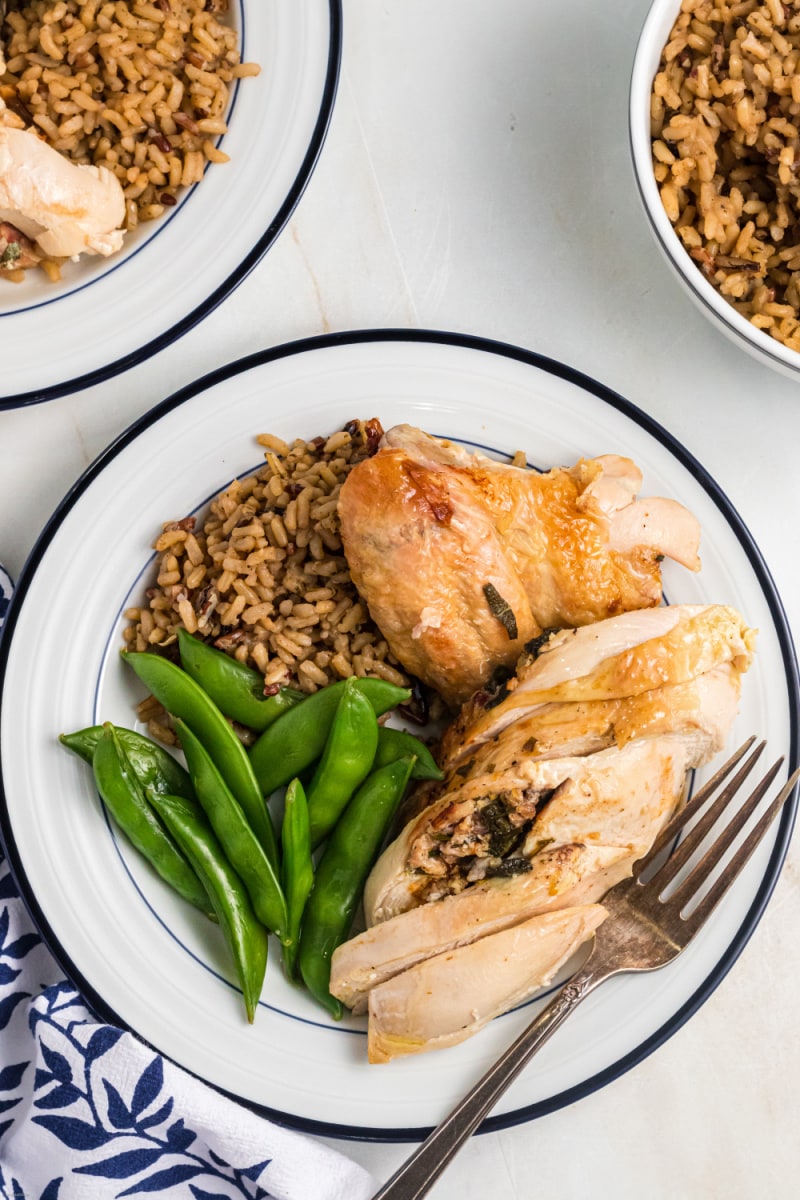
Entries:
{"label": "brown wild rice on the cropped plate at top left", "polygon": [[0,96],[24,126],[76,163],[112,170],[127,229],[176,203],[225,162],[233,82],[241,62],[228,0],[29,0],[6,14]]}

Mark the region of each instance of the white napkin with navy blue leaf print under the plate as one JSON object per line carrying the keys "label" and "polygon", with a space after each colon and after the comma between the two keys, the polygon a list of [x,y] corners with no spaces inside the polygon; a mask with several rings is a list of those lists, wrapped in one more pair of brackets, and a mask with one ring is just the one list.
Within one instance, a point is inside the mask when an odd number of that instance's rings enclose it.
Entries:
{"label": "white napkin with navy blue leaf print under the plate", "polygon": [[[0,629],[11,580],[0,566]],[[348,1158],[90,1014],[0,852],[2,1200],[367,1200]]]}

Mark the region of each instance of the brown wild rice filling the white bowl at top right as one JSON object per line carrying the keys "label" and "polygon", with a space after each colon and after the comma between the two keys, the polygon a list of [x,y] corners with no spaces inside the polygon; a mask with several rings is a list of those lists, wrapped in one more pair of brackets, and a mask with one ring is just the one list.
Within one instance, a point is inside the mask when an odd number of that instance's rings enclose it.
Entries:
{"label": "brown wild rice filling the white bowl at top right", "polygon": [[684,0],[651,96],[678,236],[720,293],[800,350],[800,12]]}

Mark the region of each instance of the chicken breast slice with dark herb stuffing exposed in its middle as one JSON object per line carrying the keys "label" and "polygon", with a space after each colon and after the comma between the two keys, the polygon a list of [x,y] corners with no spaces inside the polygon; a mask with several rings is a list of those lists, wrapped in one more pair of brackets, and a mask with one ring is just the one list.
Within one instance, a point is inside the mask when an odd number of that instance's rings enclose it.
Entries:
{"label": "chicken breast slice with dark herb stuffing exposed in its middle", "polygon": [[686,772],[709,757],[693,736],[639,738],[577,758],[525,760],[446,793],[386,847],[363,894],[367,926],[523,874],[543,850],[619,851],[628,866],[680,803]]}

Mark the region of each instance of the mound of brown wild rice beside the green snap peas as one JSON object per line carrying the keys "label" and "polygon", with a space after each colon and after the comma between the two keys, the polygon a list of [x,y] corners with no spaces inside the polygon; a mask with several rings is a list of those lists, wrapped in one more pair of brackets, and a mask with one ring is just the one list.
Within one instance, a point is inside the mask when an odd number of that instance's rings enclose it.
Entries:
{"label": "mound of brown wild rice beside the green snap peas", "polygon": [[[311,442],[261,434],[264,467],[235,479],[200,518],[162,527],[155,586],[125,613],[127,648],[174,654],[184,626],[259,671],[265,695],[283,685],[313,692],[350,674],[407,685],[339,539],[339,490],[381,432],[371,420]],[[170,740],[163,713],[148,704],[151,733]]]}

